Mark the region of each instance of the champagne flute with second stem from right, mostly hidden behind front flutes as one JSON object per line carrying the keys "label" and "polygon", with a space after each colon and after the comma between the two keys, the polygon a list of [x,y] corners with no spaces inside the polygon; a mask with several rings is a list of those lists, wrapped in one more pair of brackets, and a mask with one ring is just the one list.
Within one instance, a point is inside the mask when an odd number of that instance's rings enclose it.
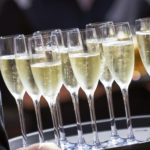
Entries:
{"label": "champagne flute with second stem from right, mostly hidden behind front flutes", "polygon": [[[112,83],[114,79],[108,68],[108,65],[106,64],[106,60],[105,60],[104,52],[103,52],[103,46],[102,46],[101,26],[105,24],[113,25],[113,22],[110,21],[110,22],[103,22],[103,23],[90,23],[86,25],[86,28],[95,28],[96,35],[98,38],[98,43],[99,43],[100,57],[102,57],[102,60],[103,60],[103,67],[100,73],[100,81],[105,88],[107,101],[108,101],[109,115],[110,115],[110,125],[111,125],[111,136],[110,136],[110,139],[105,144],[107,147],[112,147],[112,146],[124,145],[126,142],[124,138],[121,138],[118,135],[117,128],[116,128],[115,115],[114,115],[114,109],[113,109],[113,100],[112,100]],[[89,42],[88,43],[89,48],[92,48],[94,44],[95,43],[93,42]]]}

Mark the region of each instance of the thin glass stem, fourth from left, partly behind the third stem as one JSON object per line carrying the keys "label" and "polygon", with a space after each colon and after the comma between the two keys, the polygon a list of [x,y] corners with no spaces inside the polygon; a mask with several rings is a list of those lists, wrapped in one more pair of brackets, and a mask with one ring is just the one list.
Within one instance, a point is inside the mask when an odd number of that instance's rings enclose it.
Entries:
{"label": "thin glass stem, fourth from left, partly behind the third stem", "polygon": [[57,101],[56,101],[56,111],[57,111],[57,118],[58,118],[58,125],[59,125],[60,140],[61,141],[67,141],[65,130],[63,127],[63,119],[62,119],[62,115],[61,115],[59,94],[57,96]]}

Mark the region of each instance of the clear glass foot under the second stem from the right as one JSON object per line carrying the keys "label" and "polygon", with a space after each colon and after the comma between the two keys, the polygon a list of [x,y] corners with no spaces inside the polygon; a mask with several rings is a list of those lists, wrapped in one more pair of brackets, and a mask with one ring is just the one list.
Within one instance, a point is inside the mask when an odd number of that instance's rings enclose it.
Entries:
{"label": "clear glass foot under the second stem from the right", "polygon": [[126,139],[121,138],[120,136],[111,137],[110,140],[104,142],[105,147],[118,147],[125,145]]}

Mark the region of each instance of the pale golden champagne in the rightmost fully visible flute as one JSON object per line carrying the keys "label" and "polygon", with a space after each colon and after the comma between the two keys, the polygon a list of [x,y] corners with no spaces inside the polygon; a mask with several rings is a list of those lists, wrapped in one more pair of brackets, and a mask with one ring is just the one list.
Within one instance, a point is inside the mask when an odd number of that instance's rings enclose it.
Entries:
{"label": "pale golden champagne in the rightmost fully visible flute", "polygon": [[131,41],[112,41],[103,43],[106,64],[122,88],[126,88],[134,71],[134,46]]}

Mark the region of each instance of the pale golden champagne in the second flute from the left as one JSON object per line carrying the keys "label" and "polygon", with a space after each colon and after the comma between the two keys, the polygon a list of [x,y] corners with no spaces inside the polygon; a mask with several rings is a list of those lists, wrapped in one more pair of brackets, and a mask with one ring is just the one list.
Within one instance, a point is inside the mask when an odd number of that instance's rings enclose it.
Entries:
{"label": "pale golden champagne in the second flute from the left", "polygon": [[39,90],[35,84],[31,67],[30,67],[30,63],[31,63],[30,57],[20,56],[17,57],[15,60],[16,60],[18,74],[28,94],[31,95],[31,97],[39,96]]}

